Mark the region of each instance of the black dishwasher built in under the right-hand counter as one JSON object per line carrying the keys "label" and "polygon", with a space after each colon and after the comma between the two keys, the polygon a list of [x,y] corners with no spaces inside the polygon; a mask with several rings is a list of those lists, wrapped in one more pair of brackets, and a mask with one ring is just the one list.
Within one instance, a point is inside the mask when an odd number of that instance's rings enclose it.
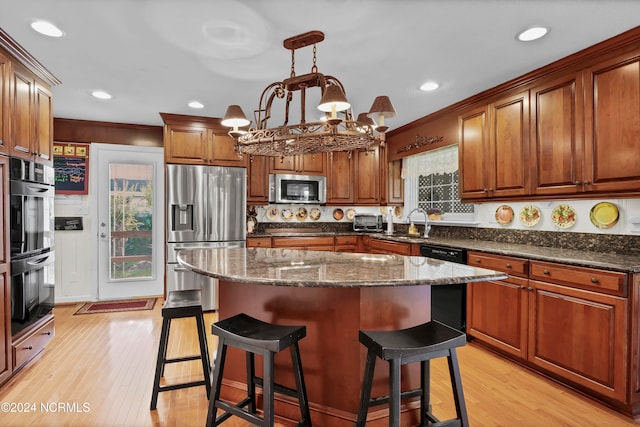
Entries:
{"label": "black dishwasher built in under the right-hand counter", "polygon": [[[467,251],[425,244],[420,246],[420,255],[424,257],[467,263]],[[449,325],[462,332],[466,330],[467,285],[437,285],[431,287],[431,319]]]}

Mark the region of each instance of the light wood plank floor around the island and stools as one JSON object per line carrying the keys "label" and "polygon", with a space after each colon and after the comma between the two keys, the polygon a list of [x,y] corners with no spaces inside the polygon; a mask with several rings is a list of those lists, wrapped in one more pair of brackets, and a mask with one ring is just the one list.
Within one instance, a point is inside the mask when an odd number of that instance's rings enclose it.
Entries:
{"label": "light wood plank floor around the island and stools", "polygon": [[[74,316],[78,306],[55,309],[56,337],[45,352],[0,389],[0,402],[32,412],[0,413],[2,426],[201,426],[204,387],[160,393],[149,410],[161,327],[154,310]],[[216,320],[206,314],[209,325]],[[170,355],[197,353],[191,319],[174,321]],[[208,329],[208,326],[207,326]],[[182,333],[180,332],[182,331]],[[215,348],[209,336],[209,348]],[[634,426],[593,400],[505,361],[474,344],[459,350],[472,426]],[[434,413],[454,414],[446,362],[432,363]],[[165,377],[199,374],[197,362],[167,366]],[[61,406],[60,406],[61,405]],[[35,406],[35,408],[34,408]],[[4,408],[4,407],[3,407]],[[244,426],[233,419],[224,425]]]}

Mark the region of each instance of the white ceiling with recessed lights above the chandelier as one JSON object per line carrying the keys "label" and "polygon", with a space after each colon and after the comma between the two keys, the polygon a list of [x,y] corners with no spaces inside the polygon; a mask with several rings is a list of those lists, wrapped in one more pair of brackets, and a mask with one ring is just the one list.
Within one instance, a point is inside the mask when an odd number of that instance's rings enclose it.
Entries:
{"label": "white ceiling with recessed lights above the chandelier", "polygon": [[[35,33],[35,19],[65,36]],[[0,27],[62,81],[55,117],[149,125],[228,104],[251,116],[289,77],[282,41],[310,30],[325,33],[318,70],[344,84],[354,113],[386,94],[393,129],[639,24],[640,0],[0,0]],[[516,41],[532,25],[551,31]],[[298,75],[310,58],[297,51]],[[421,92],[426,80],[440,88]]]}

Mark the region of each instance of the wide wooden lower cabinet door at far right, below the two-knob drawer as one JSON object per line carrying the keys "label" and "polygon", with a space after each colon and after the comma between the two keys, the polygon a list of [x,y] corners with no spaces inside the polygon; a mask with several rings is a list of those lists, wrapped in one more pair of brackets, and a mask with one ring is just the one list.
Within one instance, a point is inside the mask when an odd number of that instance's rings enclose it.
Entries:
{"label": "wide wooden lower cabinet door at far right, below the two-knob drawer", "polygon": [[529,360],[624,401],[627,378],[625,298],[530,281]]}

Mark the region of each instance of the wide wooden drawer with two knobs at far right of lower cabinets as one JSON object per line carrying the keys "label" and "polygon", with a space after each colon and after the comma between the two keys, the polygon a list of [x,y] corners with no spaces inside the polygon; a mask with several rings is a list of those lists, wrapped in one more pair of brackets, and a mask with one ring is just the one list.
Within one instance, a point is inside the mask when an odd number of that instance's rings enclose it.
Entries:
{"label": "wide wooden drawer with two knobs at far right of lower cabinets", "polygon": [[627,296],[627,275],[616,271],[532,261],[530,278],[611,295]]}

